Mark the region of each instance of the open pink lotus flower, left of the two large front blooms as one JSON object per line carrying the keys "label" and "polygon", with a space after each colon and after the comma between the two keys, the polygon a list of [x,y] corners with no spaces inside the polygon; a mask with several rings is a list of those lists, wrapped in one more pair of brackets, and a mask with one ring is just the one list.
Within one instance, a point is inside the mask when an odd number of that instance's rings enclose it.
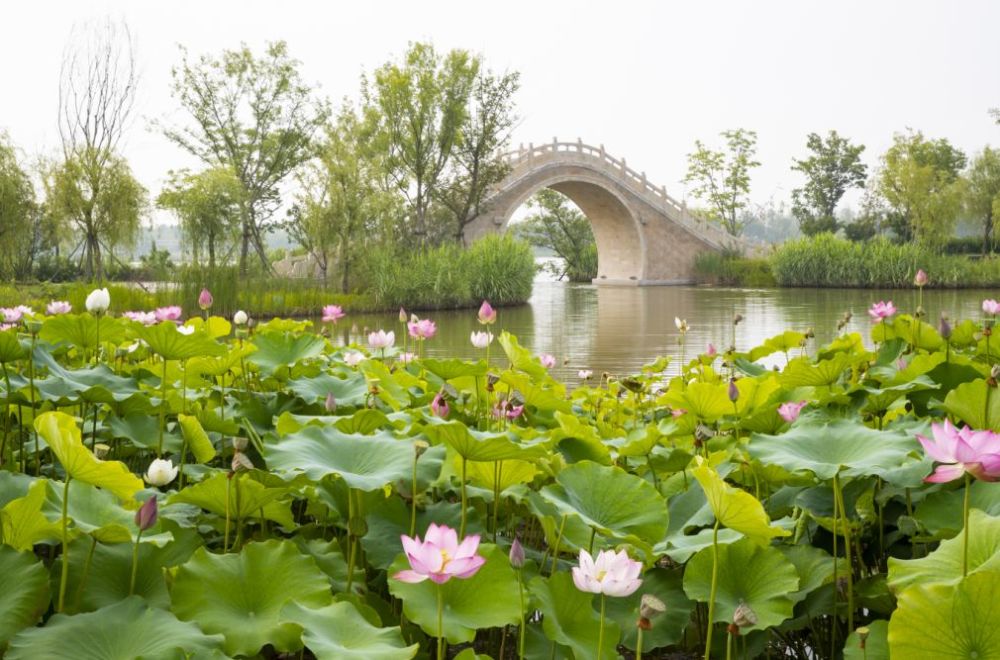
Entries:
{"label": "open pink lotus flower, left of the two large front blooms", "polygon": [[458,534],[451,527],[431,523],[422,542],[419,536],[410,538],[404,534],[401,538],[411,569],[392,576],[401,582],[416,583],[430,578],[444,584],[451,578],[470,578],[486,563],[485,557],[476,554],[478,534],[466,536],[459,543]]}

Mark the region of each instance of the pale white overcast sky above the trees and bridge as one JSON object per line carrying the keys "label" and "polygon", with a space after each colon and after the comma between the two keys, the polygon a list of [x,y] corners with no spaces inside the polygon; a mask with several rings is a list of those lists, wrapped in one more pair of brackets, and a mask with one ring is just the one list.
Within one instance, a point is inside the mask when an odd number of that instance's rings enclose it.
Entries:
{"label": "pale white overcast sky above the trees and bridge", "polygon": [[356,97],[363,71],[407,42],[481,53],[521,72],[514,143],[604,144],[684,196],[695,139],[759,135],[752,196],[788,198],[809,132],[836,129],[873,164],[912,127],[968,153],[1000,144],[1000,2],[12,2],[0,24],[0,130],[55,153],[59,65],[74,23],[124,18],[143,73],[125,156],[152,194],[193,163],[149,119],[182,120],[169,92],[178,44],[192,54],[285,40],[307,81]]}

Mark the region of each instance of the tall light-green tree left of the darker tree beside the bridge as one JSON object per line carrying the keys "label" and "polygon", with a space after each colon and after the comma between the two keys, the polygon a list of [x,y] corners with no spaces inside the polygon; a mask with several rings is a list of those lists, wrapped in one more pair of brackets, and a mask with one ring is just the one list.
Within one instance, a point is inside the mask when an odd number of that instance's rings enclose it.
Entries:
{"label": "tall light-green tree left of the darker tree beside the bridge", "polygon": [[363,80],[371,146],[383,154],[387,184],[406,200],[405,235],[421,244],[454,235],[431,226],[431,204],[462,144],[479,68],[468,51],[442,56],[431,44],[414,43],[401,62],[389,62]]}

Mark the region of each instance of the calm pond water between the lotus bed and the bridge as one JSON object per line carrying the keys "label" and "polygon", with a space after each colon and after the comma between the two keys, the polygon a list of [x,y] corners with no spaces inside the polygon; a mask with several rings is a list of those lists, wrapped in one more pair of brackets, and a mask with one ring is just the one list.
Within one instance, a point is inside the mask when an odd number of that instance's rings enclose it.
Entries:
{"label": "calm pond water between the lotus bed and the bridge", "polygon": [[[950,318],[979,318],[984,298],[1000,291],[928,290],[923,295],[926,320],[937,325],[942,312]],[[534,353],[551,353],[558,361],[553,373],[575,381],[580,369],[625,375],[638,371],[659,355],[680,354],[674,317],[687,319],[690,330],[686,355],[706,349],[709,342],[720,352],[732,343],[732,319],[744,320],[736,328],[736,346],[746,350],[785,330],[813,328],[811,345],[830,341],[845,311],[853,313],[849,332],[868,340],[872,321],[867,309],[873,301],[892,300],[901,312],[917,305],[915,290],[866,289],[733,289],[708,286],[609,287],[567,284],[539,279],[528,304],[498,310],[494,334],[507,330]],[[349,310],[348,310],[349,311]],[[474,359],[484,352],[473,348],[469,334],[481,330],[475,310],[422,314],[438,326],[426,353],[435,357]],[[351,330],[351,321],[356,331]],[[402,326],[396,314],[350,315],[338,326],[340,340],[367,345],[363,332],[382,327],[394,330],[401,343]],[[502,355],[493,344],[492,355]],[[779,360],[783,357],[778,356]],[[669,372],[676,372],[676,361]]]}

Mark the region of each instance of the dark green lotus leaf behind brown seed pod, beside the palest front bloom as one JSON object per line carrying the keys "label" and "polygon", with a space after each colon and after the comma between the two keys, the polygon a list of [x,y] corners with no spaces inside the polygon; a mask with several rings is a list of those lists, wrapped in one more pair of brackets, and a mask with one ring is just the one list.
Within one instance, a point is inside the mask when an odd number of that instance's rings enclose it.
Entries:
{"label": "dark green lotus leaf behind brown seed pod, beside the palest front bloom", "polygon": [[[642,636],[643,651],[677,644],[684,636],[684,628],[691,621],[694,602],[684,593],[681,585],[681,571],[654,568],[642,576],[642,586],[626,598],[608,598],[607,615],[614,619],[624,631],[622,643],[629,649],[636,646],[636,621],[639,620],[639,604],[643,594],[652,594],[667,606],[663,614],[650,621],[653,625]],[[595,645],[596,646],[596,645]],[[612,656],[614,657],[614,656]]]}

